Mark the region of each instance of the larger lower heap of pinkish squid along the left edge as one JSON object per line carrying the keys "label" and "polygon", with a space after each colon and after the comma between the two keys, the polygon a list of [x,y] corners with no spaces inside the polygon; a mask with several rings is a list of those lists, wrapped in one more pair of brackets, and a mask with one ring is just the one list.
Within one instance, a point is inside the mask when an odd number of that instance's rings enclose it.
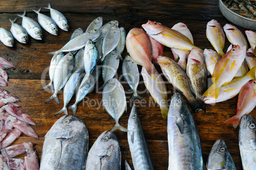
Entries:
{"label": "larger lower heap of pinkish squid along the left edge", "polygon": [[[11,145],[20,134],[37,138],[38,135],[30,125],[36,125],[25,111],[18,108],[17,96],[7,90],[0,89],[0,165],[3,169],[39,169],[38,156],[32,143]],[[27,153],[23,159],[13,159],[17,155]]]}

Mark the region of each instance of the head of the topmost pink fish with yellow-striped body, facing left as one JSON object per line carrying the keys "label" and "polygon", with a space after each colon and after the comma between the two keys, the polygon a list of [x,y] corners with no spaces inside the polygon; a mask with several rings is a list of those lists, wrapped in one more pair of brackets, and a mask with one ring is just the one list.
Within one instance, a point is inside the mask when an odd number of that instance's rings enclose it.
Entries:
{"label": "head of the topmost pink fish with yellow-striped body, facing left", "polygon": [[149,35],[157,35],[164,31],[162,24],[158,22],[152,22],[148,20],[146,24],[141,25],[145,29],[146,33]]}

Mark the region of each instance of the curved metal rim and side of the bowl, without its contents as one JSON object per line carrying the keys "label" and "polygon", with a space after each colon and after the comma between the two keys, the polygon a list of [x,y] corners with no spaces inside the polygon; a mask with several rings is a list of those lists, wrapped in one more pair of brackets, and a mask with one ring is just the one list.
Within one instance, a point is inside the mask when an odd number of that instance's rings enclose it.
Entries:
{"label": "curved metal rim and side of the bowl, without its contents", "polygon": [[218,6],[220,6],[222,15],[224,15],[224,17],[227,18],[227,20],[230,22],[246,29],[256,30],[256,20],[246,18],[237,13],[234,13],[233,11],[229,10],[227,6],[225,6],[222,0],[218,1]]}

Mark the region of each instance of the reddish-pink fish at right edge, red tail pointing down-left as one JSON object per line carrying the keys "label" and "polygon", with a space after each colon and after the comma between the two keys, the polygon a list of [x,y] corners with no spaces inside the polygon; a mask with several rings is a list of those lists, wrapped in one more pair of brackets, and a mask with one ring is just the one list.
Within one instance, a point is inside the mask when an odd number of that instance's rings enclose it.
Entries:
{"label": "reddish-pink fish at right edge, red tail pointing down-left", "polygon": [[246,83],[238,95],[238,108],[234,117],[226,120],[225,123],[233,124],[236,128],[239,124],[241,117],[249,114],[256,106],[256,80]]}

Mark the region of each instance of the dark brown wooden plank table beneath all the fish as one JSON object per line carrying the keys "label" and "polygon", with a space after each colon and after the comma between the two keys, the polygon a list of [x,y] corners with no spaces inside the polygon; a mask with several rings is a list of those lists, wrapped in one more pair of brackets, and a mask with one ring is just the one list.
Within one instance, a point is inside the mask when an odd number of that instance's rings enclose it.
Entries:
{"label": "dark brown wooden plank table beneath all the fish", "polygon": [[[73,31],[81,27],[83,31],[87,26],[99,16],[103,17],[104,23],[110,20],[118,20],[120,27],[124,27],[128,32],[132,27],[141,27],[147,20],[153,20],[172,27],[178,22],[187,24],[188,28],[194,36],[194,43],[200,48],[212,48],[210,42],[206,38],[206,24],[211,19],[216,19],[222,26],[230,23],[226,20],[218,8],[218,1],[52,1],[52,7],[64,13],[69,21],[69,32],[59,31],[59,36],[52,36],[48,32],[43,31],[43,40],[36,41],[29,38],[29,43],[23,45],[15,41],[13,48],[9,48],[0,44],[1,57],[10,60],[15,64],[14,69],[7,69],[10,76],[10,83],[6,90],[10,90],[22,100],[22,110],[26,111],[36,122],[33,129],[39,135],[39,139],[32,139],[22,135],[14,143],[22,143],[24,141],[32,141],[36,143],[36,150],[39,158],[43,140],[46,132],[52,127],[53,123],[61,117],[53,117],[57,111],[62,108],[62,94],[59,95],[60,106],[54,101],[47,104],[43,102],[52,94],[45,90],[39,91],[43,83],[48,83],[48,74],[46,80],[41,78],[45,74],[45,70],[50,65],[52,55],[46,55],[47,52],[59,50],[68,42]],[[48,6],[48,1],[32,1],[32,0],[10,0],[0,2],[0,24],[1,27],[10,29],[11,23],[9,18],[14,19],[17,13],[23,13],[27,10],[27,16],[37,20],[36,13],[32,9],[38,10],[41,6]],[[50,16],[48,10],[43,9],[43,13]],[[21,24],[21,18],[18,18],[18,24]],[[245,29],[239,27],[241,31]],[[225,50],[229,46],[226,39]],[[126,51],[123,56],[126,55]],[[164,55],[171,56],[171,50],[164,48]],[[121,66],[121,64],[120,64]],[[141,68],[141,67],[139,67]],[[158,67],[159,69],[159,67]],[[120,68],[118,76],[121,76]],[[122,82],[125,91],[129,91],[127,83]],[[102,85],[102,79],[99,83]],[[173,87],[166,83],[167,89],[170,91],[168,99],[175,92]],[[145,85],[141,78],[139,83],[139,92],[145,90]],[[96,101],[101,101],[101,94],[97,94],[94,90],[89,94],[87,103],[81,103],[78,106],[76,116],[82,118],[89,129],[89,145],[92,146],[99,134],[103,131],[110,130],[115,121],[111,118],[102,106]],[[131,94],[127,94],[129,101]],[[141,97],[147,101],[146,106],[139,107],[139,117],[143,125],[143,131],[151,153],[153,166],[155,169],[167,169],[168,166],[168,146],[167,146],[167,122],[160,115],[160,109],[157,104],[153,105],[150,94],[145,92]],[[225,139],[232,158],[237,169],[241,168],[241,158],[238,146],[238,128],[234,129],[231,124],[224,124],[224,121],[236,114],[236,103],[238,97],[234,97],[229,101],[207,106],[206,113],[194,113],[193,117],[196,121],[201,145],[203,150],[203,159],[206,162],[211,146],[217,139]],[[71,101],[74,103],[75,99]],[[87,106],[87,104],[92,106]],[[120,118],[120,124],[127,126],[127,120],[131,111],[131,104],[128,104],[127,111]],[[150,105],[150,106],[149,106]],[[71,111],[69,111],[71,114]],[[252,116],[256,119],[256,110],[252,111]],[[127,143],[127,134],[117,131],[117,138],[120,142],[122,150],[122,165],[127,160],[132,166],[131,153]]]}

